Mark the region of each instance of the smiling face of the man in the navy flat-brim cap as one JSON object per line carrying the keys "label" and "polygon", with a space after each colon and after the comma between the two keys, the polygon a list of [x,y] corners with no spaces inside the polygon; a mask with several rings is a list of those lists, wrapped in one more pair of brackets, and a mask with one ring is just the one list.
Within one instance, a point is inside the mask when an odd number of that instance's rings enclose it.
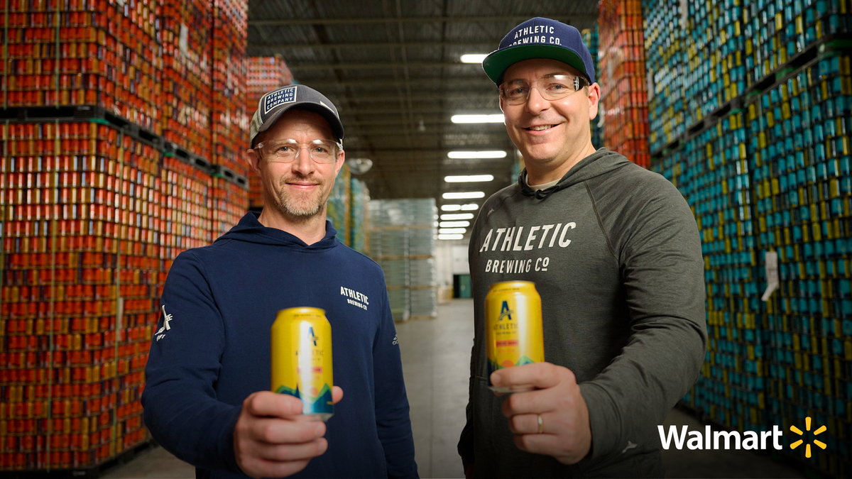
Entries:
{"label": "smiling face of the man in the navy flat-brim cap", "polygon": [[[533,83],[550,74],[581,75],[561,61],[538,58],[509,66],[504,81],[524,79]],[[506,131],[521,151],[531,174],[532,170],[567,171],[594,151],[589,121],[596,116],[599,97],[600,89],[593,84],[554,101],[545,100],[534,88],[527,101],[520,105],[509,105],[500,99]]]}

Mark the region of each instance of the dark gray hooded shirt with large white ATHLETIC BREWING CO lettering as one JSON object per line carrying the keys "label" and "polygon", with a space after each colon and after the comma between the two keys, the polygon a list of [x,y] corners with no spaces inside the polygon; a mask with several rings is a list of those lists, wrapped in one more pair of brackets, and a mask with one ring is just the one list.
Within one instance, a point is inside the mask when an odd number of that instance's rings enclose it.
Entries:
{"label": "dark gray hooded shirt with large white ATHLETIC BREWING CO lettering", "polygon": [[[671,182],[604,148],[544,192],[521,179],[482,205],[469,261],[465,467],[482,477],[662,476],[657,424],[698,378],[706,347],[698,227]],[[487,389],[485,297],[507,280],[536,284],[545,361],[574,373],[589,407],[592,447],[577,465],[515,447],[503,398]]]}

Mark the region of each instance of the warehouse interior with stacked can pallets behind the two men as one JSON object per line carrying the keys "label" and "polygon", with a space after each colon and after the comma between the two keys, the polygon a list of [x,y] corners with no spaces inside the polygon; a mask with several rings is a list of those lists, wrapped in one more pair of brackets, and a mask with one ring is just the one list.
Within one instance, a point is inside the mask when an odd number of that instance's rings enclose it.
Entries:
{"label": "warehouse interior with stacked can pallets behind the two men", "polygon": [[786,431],[665,451],[667,475],[852,476],[849,0],[0,3],[3,475],[194,475],[142,422],[159,297],[262,211],[251,115],[305,84],[346,130],[327,217],[383,268],[420,474],[463,476],[470,229],[523,169],[481,61],[542,16],[596,63],[593,145],[665,176],[701,234],[708,349],[665,427]]}

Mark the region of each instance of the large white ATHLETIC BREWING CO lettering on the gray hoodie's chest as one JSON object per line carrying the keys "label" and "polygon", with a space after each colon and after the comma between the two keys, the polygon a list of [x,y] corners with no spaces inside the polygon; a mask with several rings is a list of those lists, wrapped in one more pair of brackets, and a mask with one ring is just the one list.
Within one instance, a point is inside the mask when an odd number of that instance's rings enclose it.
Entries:
{"label": "large white ATHLETIC BREWING CO lettering on the gray hoodie's chest", "polygon": [[[486,273],[515,274],[535,271],[547,271],[550,257],[510,257],[515,251],[547,250],[566,248],[571,244],[576,222],[544,224],[527,229],[523,226],[509,228],[491,228],[482,240],[480,255],[497,256],[485,263]],[[525,234],[525,229],[527,232]],[[489,253],[494,253],[490,255]],[[503,254],[501,254],[503,253]],[[535,254],[535,253],[533,253]]]}

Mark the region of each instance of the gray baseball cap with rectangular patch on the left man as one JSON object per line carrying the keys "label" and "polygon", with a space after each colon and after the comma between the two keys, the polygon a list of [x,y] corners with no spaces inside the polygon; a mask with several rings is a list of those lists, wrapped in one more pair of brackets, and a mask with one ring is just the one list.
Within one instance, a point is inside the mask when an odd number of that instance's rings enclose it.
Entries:
{"label": "gray baseball cap with rectangular patch on the left man", "polygon": [[288,85],[273,89],[261,96],[257,104],[257,111],[251,117],[250,144],[255,142],[255,136],[269,128],[291,108],[308,110],[308,112],[320,113],[328,124],[331,132],[337,136],[337,140],[343,141],[343,124],[340,123],[340,115],[334,103],[319,91],[302,84]]}

